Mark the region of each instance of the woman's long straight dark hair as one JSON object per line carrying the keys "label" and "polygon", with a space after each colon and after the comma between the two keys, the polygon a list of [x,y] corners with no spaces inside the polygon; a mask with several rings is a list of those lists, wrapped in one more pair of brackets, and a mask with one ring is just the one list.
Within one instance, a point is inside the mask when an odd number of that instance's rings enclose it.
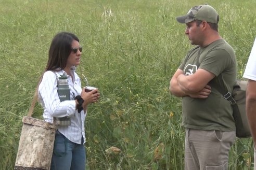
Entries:
{"label": "woman's long straight dark hair", "polygon": [[61,32],[55,35],[50,44],[49,58],[45,71],[66,67],[73,40],[79,41],[79,38],[72,33]]}

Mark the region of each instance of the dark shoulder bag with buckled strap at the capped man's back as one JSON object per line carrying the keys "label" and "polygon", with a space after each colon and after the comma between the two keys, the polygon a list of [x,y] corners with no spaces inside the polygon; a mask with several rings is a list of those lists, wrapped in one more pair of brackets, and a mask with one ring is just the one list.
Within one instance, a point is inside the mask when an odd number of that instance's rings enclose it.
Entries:
{"label": "dark shoulder bag with buckled strap at the capped man's back", "polygon": [[246,87],[247,81],[244,80],[236,81],[232,93],[228,92],[225,86],[215,87],[232,105],[233,117],[236,124],[236,136],[239,138],[251,137],[250,127],[246,116]]}

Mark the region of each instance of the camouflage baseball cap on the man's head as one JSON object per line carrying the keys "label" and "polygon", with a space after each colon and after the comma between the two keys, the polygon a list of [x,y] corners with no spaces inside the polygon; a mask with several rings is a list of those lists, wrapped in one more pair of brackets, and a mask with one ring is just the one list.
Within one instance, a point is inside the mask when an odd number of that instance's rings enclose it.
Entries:
{"label": "camouflage baseball cap on the man's head", "polygon": [[176,20],[180,23],[200,20],[217,24],[219,22],[219,14],[210,5],[198,5],[191,8],[185,16],[176,17]]}

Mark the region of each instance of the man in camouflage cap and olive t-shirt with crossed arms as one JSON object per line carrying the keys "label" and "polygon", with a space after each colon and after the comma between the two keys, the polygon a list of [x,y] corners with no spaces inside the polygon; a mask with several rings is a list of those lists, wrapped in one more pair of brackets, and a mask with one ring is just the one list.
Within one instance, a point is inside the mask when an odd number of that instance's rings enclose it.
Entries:
{"label": "man in camouflage cap and olive t-shirt with crossed arms", "polygon": [[182,97],[185,170],[227,169],[236,127],[231,103],[217,89],[233,90],[234,50],[218,33],[219,15],[213,7],[195,6],[176,20],[186,24],[185,34],[197,45],[170,81],[170,92]]}

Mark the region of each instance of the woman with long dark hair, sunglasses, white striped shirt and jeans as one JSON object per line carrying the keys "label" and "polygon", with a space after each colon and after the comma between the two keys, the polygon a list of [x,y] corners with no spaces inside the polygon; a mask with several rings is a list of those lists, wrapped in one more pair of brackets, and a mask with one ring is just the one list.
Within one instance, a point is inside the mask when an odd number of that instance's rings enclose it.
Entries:
{"label": "woman with long dark hair, sunglasses, white striped shirt and jeans", "polygon": [[[58,33],[49,49],[48,63],[39,86],[39,100],[44,108],[45,121],[53,122],[54,117],[70,118],[69,125],[58,125],[51,170],[85,169],[84,121],[89,103],[97,102],[97,89],[85,92],[75,73],[80,64],[82,46],[72,33]],[[70,89],[70,100],[60,102],[57,91],[57,77],[66,75]]]}

